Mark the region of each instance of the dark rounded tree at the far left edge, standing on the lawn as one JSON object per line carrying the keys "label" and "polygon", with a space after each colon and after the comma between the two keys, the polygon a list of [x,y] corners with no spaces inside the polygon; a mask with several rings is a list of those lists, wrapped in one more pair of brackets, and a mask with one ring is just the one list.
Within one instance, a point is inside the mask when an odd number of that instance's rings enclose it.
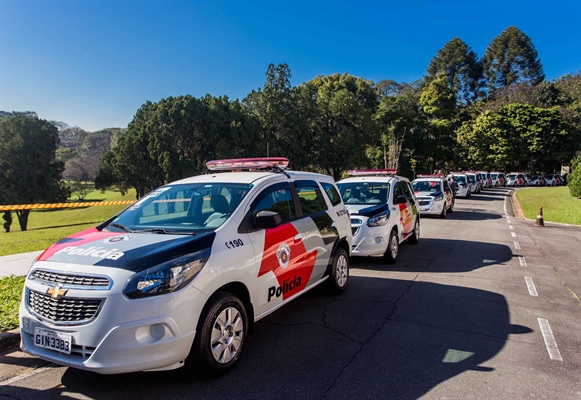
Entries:
{"label": "dark rounded tree at the far left edge, standing on the lawn", "polygon": [[[58,130],[31,116],[0,121],[0,204],[65,201],[62,162],[55,160]],[[30,210],[16,211],[25,231]]]}

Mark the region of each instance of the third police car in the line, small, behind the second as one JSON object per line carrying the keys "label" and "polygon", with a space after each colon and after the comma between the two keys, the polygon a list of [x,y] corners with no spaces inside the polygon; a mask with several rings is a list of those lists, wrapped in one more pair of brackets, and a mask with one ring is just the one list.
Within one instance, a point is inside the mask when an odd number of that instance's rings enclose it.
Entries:
{"label": "third police car in the line, small, behind the second", "polygon": [[419,201],[421,215],[439,215],[446,218],[454,211],[454,194],[443,175],[418,175],[412,181],[414,194]]}

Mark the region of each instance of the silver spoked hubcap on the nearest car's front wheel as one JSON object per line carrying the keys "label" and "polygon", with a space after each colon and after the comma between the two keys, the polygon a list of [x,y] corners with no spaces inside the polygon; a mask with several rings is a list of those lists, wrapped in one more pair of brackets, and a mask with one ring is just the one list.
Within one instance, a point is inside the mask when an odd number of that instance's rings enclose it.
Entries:
{"label": "silver spoked hubcap on the nearest car's front wheel", "polygon": [[236,355],[244,339],[242,315],[234,307],[228,307],[218,315],[212,328],[211,348],[214,359],[226,364]]}

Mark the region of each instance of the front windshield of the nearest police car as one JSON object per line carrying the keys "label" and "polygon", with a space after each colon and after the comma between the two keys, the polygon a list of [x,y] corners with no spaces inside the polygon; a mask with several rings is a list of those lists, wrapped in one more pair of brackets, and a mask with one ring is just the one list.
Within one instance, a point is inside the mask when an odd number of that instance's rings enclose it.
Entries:
{"label": "front windshield of the nearest police car", "polygon": [[181,235],[213,231],[250,188],[249,184],[214,182],[163,186],[123,211],[106,229]]}

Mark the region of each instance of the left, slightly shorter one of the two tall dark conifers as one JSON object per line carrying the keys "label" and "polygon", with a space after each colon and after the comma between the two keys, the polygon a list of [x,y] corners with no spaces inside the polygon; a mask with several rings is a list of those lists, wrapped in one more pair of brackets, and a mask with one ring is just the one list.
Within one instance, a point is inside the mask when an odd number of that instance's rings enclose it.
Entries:
{"label": "left, slightly shorter one of the two tall dark conifers", "polygon": [[469,104],[482,95],[482,64],[478,56],[460,38],[454,38],[438,50],[428,67],[428,83],[440,74],[446,77],[446,84],[454,91],[458,104]]}

